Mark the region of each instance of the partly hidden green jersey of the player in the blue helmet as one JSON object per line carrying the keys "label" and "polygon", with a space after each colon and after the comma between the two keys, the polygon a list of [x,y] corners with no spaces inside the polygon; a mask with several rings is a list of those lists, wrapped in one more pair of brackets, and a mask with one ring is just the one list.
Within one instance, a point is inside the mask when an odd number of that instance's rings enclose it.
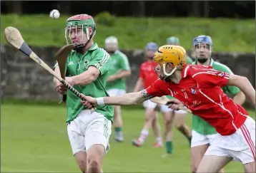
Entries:
{"label": "partly hidden green jersey of the player in the blue helmet", "polygon": [[[192,64],[197,64],[197,61],[193,62]],[[230,68],[228,68],[226,65],[222,63],[213,61],[212,58],[210,60],[210,65],[215,70],[233,74]],[[237,93],[240,92],[239,88],[231,85],[223,87],[222,90],[227,95],[237,95]],[[210,125],[205,120],[202,120],[202,118],[197,115],[192,115],[192,130],[195,130],[196,132],[199,132],[202,135],[212,135],[217,133],[215,127],[212,127],[212,125]]]}

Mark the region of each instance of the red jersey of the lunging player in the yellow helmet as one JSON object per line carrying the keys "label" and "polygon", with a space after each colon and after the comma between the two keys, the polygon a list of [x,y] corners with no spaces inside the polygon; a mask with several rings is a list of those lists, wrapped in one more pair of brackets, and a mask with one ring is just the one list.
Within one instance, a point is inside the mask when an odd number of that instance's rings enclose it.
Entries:
{"label": "red jersey of the lunging player in the yellow helmet", "polygon": [[185,65],[179,84],[159,79],[147,88],[147,93],[159,97],[172,95],[220,135],[231,135],[245,122],[248,113],[223,93],[221,87],[227,85],[229,77],[229,73],[211,66]]}

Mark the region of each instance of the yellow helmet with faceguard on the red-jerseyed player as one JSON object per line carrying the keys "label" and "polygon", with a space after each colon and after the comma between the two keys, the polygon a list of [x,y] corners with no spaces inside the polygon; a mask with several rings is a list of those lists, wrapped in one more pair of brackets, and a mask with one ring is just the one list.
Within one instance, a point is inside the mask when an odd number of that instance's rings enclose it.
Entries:
{"label": "yellow helmet with faceguard on the red-jerseyed player", "polygon": [[[182,70],[186,64],[187,53],[182,46],[176,45],[164,45],[158,48],[157,52],[154,53],[154,61],[161,65],[163,68],[164,75],[172,75],[175,70]],[[167,63],[172,63],[174,69],[171,73],[165,71]]]}

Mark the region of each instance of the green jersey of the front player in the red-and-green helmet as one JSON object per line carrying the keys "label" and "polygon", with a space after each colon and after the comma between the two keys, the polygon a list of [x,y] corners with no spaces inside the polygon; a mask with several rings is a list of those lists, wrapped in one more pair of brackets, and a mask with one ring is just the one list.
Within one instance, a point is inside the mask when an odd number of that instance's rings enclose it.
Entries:
{"label": "green jersey of the front player in the red-and-green helmet", "polygon": [[[83,93],[84,95],[92,96],[94,98],[109,96],[105,90],[105,85],[110,67],[110,56],[103,48],[99,48],[97,43],[94,43],[84,54],[77,53],[77,51],[69,53],[66,63],[66,76],[71,77],[79,75],[86,71],[89,66],[94,66],[99,69],[100,74],[97,80],[88,85],[74,85],[74,88],[79,93]],[[74,95],[70,90],[67,91],[66,103],[67,122],[74,120],[74,118],[79,115],[79,112],[87,109],[82,105],[80,98],[78,98],[77,95]],[[113,120],[113,106],[97,106],[96,111],[107,117],[108,120]]]}

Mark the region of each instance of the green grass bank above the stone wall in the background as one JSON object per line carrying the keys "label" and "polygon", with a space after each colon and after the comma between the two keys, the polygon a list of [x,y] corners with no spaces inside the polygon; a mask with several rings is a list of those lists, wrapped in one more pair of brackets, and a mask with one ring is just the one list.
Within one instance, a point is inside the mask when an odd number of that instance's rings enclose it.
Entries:
{"label": "green grass bank above the stone wall in the background", "polygon": [[[68,16],[50,19],[48,15],[1,15],[1,34],[6,26],[19,28],[32,46],[63,46],[64,26]],[[97,24],[94,40],[104,46],[107,36],[117,36],[122,49],[144,48],[147,42],[165,44],[169,36],[180,38],[182,46],[192,48],[192,38],[212,36],[214,51],[255,53],[255,20],[196,18],[114,18],[113,26]],[[4,36],[1,42],[6,43]]]}

